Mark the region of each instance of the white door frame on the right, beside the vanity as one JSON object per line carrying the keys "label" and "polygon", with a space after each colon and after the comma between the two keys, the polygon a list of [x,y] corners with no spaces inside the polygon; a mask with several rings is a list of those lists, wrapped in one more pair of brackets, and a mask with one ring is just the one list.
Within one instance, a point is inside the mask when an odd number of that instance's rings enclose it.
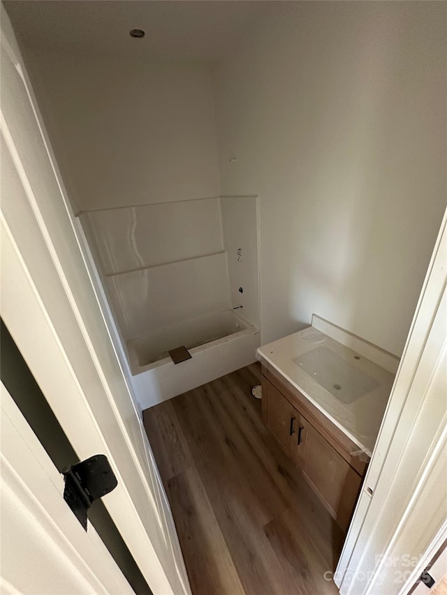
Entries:
{"label": "white door frame on the right, beside the vanity", "polygon": [[[447,460],[447,428],[443,430],[447,404],[445,396],[442,402],[442,391],[438,389],[438,405],[441,406],[435,407],[433,391],[436,387],[432,386],[434,379],[439,379],[443,370],[445,375],[447,368],[446,287],[447,210],[335,571],[335,582],[342,595],[372,593],[371,589],[377,588],[379,579],[382,580],[381,589],[388,589],[383,590],[383,594],[408,593],[447,536],[445,485],[439,485],[438,480],[440,497],[436,502],[425,490],[425,486],[435,481],[439,474],[443,457]],[[441,419],[433,432],[430,419],[433,415],[439,416],[439,412]],[[427,428],[424,444],[427,450],[421,449],[424,460],[411,460],[407,455],[409,440],[416,432],[423,433],[424,428]],[[406,486],[402,481],[395,481],[398,473],[405,474]],[[411,485],[410,493],[408,485]],[[394,515],[393,522],[384,518],[387,507]],[[427,538],[425,527],[429,516],[434,528]],[[413,537],[413,551],[398,553],[404,535],[408,541],[409,535]],[[408,567],[404,561],[402,566],[400,559],[395,565],[393,556],[404,554],[418,557],[417,562],[415,559],[413,566]],[[399,572],[402,572],[402,580],[398,590],[393,590],[390,582],[393,573]]]}

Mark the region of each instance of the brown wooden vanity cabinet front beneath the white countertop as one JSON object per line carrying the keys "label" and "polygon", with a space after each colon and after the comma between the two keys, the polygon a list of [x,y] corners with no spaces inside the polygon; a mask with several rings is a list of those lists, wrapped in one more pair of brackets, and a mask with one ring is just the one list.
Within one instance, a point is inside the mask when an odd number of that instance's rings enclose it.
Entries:
{"label": "brown wooden vanity cabinet front beneath the white countertop", "polygon": [[346,530],[367,462],[351,453],[358,447],[296,389],[263,368],[263,421],[277,442]]}

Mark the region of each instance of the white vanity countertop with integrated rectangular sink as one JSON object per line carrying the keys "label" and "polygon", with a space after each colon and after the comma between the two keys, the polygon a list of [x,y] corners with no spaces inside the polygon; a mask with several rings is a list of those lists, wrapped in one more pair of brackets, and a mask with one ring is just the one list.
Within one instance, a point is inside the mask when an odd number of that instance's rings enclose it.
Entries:
{"label": "white vanity countertop with integrated rectangular sink", "polygon": [[[374,349],[381,354],[378,347],[366,342],[365,346],[369,354],[374,356]],[[395,374],[360,352],[313,326],[258,348],[261,361],[280,372],[349,436],[359,451],[371,456]],[[346,401],[355,400],[342,402],[332,393],[343,393]]]}

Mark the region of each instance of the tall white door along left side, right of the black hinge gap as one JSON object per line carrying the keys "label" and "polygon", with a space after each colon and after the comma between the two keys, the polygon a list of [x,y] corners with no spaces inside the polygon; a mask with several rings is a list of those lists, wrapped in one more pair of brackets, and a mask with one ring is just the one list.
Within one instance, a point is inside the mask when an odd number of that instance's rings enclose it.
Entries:
{"label": "tall white door along left side, right of the black hinge gap", "polygon": [[1,12],[1,316],[155,595],[190,593],[172,514],[101,315],[8,16]]}

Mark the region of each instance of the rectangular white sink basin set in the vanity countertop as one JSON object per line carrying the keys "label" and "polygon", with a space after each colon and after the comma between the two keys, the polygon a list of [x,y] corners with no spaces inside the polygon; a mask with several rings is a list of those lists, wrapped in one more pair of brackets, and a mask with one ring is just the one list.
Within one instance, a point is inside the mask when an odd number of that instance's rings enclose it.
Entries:
{"label": "rectangular white sink basin set in the vanity countertop", "polygon": [[380,383],[360,369],[361,357],[352,353],[352,361],[320,345],[293,358],[293,363],[311,376],[323,389],[342,403],[349,405],[373,391]]}

